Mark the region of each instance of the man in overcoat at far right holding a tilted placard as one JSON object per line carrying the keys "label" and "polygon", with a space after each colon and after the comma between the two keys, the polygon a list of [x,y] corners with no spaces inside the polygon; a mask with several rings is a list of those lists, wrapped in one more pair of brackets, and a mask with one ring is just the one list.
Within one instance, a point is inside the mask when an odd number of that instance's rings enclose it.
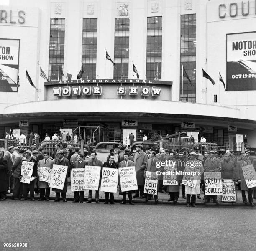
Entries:
{"label": "man in overcoat at far right holding a tilted placard", "polygon": [[247,199],[246,199],[246,194],[245,194],[245,192],[247,191],[249,204],[254,207],[255,205],[253,204],[252,195],[253,195],[253,189],[255,189],[255,188],[248,188],[247,185],[246,185],[246,180],[243,176],[242,167],[248,166],[248,165],[251,165],[251,161],[247,159],[246,153],[243,153],[242,160],[238,161],[238,163],[237,163],[237,172],[236,172],[236,174],[237,174],[237,180],[241,184],[241,192],[242,192],[243,203],[245,205],[247,204]]}

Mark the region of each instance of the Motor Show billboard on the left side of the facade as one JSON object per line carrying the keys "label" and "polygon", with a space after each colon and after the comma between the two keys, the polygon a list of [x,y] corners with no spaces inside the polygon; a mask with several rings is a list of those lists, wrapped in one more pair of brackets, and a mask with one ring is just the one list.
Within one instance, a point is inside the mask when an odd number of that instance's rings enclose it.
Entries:
{"label": "Motor Show billboard on the left side of the facade", "polygon": [[0,91],[18,91],[19,39],[0,38]]}

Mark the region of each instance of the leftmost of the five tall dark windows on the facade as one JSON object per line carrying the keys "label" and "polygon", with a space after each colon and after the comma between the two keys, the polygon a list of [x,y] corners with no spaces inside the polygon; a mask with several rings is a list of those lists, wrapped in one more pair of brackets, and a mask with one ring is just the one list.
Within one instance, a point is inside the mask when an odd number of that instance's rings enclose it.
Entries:
{"label": "leftmost of the five tall dark windows on the facade", "polygon": [[49,48],[49,80],[61,80],[59,65],[64,63],[65,18],[51,18]]}

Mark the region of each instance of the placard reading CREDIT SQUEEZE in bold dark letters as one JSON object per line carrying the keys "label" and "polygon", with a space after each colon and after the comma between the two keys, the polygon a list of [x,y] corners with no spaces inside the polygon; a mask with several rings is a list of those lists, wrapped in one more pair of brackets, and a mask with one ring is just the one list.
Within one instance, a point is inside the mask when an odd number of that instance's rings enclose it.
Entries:
{"label": "placard reading CREDIT SQUEEZE in bold dark letters", "polygon": [[205,195],[222,195],[221,172],[204,172]]}

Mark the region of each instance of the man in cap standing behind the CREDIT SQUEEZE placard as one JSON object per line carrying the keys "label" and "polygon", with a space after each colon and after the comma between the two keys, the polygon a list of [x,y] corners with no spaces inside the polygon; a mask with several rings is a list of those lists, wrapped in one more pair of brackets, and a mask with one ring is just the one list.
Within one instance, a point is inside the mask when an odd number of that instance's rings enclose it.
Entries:
{"label": "man in cap standing behind the CREDIT SQUEEZE placard", "polygon": [[[220,160],[215,157],[215,152],[208,152],[210,158],[205,160],[204,172],[221,172]],[[205,195],[205,205],[210,202],[210,198],[213,198],[213,202],[218,205],[217,195]]]}

